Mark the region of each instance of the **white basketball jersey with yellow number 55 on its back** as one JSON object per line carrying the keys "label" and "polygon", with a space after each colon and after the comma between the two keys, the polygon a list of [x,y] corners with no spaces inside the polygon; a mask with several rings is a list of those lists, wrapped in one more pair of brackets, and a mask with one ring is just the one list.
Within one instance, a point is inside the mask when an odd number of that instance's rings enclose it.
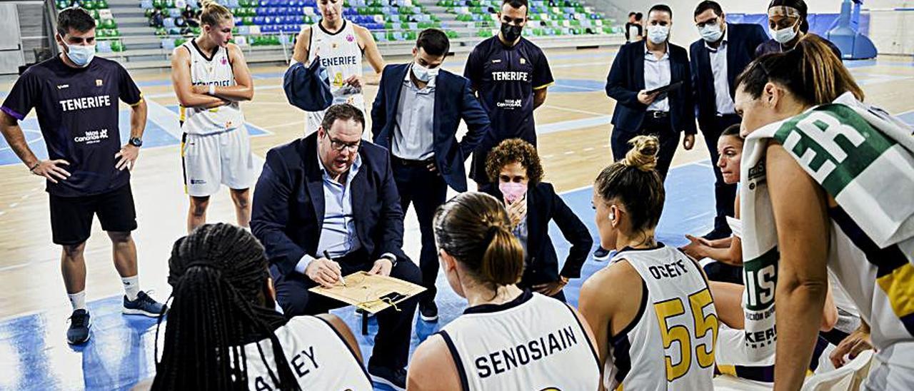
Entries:
{"label": "white basketball jersey with yellow number 55 on its back", "polygon": [[717,310],[696,263],[676,248],[624,248],[643,280],[638,315],[611,336],[604,368],[607,389],[713,389]]}

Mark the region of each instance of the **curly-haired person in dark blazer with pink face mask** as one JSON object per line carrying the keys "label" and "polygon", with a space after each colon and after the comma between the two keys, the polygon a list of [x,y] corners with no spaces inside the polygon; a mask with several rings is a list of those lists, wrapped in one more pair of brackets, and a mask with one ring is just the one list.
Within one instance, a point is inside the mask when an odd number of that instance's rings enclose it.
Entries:
{"label": "curly-haired person in dark blazer with pink face mask", "polygon": [[[524,246],[524,275],[517,286],[565,301],[562,288],[569,279],[580,277],[580,268],[593,245],[590,231],[552,185],[540,182],[543,166],[530,143],[520,139],[499,143],[486,158],[485,173],[491,183],[480,191],[505,203],[512,231]],[[571,244],[561,272],[549,238],[550,220]]]}

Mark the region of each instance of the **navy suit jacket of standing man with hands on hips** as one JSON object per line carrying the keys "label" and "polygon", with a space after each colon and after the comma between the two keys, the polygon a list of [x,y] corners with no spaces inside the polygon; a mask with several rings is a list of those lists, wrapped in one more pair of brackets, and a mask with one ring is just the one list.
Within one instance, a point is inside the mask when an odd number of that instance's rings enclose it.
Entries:
{"label": "navy suit jacket of standing man with hands on hips", "polygon": [[[409,63],[384,68],[375,104],[371,108],[371,133],[375,143],[390,149],[397,127],[400,90]],[[426,114],[427,115],[427,114]],[[457,127],[466,122],[467,133],[457,142]],[[435,165],[444,181],[458,192],[466,191],[463,163],[489,132],[489,115],[473,95],[470,80],[441,69],[435,79],[434,128]]]}

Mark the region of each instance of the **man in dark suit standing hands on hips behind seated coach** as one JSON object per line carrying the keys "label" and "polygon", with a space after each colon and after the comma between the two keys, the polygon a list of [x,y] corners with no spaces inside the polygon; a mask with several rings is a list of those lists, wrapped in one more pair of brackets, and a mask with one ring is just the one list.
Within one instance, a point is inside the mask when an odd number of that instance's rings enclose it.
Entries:
{"label": "man in dark suit standing hands on hips behind seated coach", "polygon": [[[384,69],[371,110],[375,143],[390,151],[404,213],[412,203],[422,235],[420,298],[423,321],[438,319],[435,280],[438,257],[431,220],[445,201],[448,185],[466,191],[463,163],[489,132],[489,117],[473,96],[470,80],[441,69],[451,44],[441,30],[422,31],[412,49],[413,62]],[[455,135],[461,119],[468,132]]]}

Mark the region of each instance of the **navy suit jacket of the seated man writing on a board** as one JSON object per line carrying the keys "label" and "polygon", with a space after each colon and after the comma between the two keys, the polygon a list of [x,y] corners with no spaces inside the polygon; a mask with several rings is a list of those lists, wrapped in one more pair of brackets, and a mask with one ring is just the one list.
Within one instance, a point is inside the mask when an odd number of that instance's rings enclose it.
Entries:
{"label": "navy suit jacket of the seated man writing on a board", "polygon": [[[352,211],[362,248],[378,259],[403,253],[403,211],[388,151],[362,142],[362,165],[352,179]],[[267,259],[283,275],[294,272],[304,254],[317,254],[324,225],[324,178],[317,158],[317,132],[274,147],[254,189],[250,229]]]}

